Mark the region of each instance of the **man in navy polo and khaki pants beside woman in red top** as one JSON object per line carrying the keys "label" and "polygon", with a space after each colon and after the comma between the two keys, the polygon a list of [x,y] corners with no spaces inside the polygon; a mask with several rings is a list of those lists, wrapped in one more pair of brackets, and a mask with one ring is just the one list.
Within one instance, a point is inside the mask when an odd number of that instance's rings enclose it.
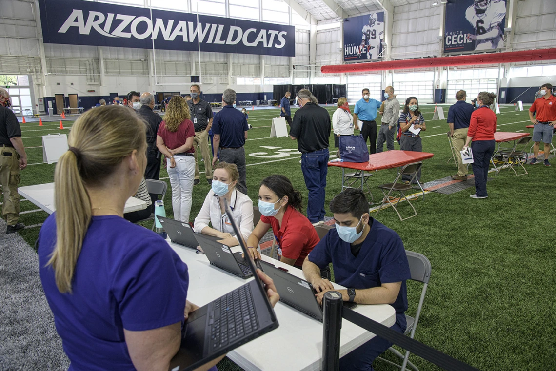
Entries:
{"label": "man in navy polo and khaki pants beside woman in red top", "polygon": [[448,125],[450,126],[450,134],[452,145],[454,146],[455,158],[458,161],[458,173],[454,174],[452,179],[456,181],[467,180],[467,166],[461,162],[461,149],[467,139],[467,131],[469,130],[469,122],[471,121],[471,113],[473,113],[473,105],[466,103],[467,94],[464,90],[455,93],[458,100],[448,110]]}

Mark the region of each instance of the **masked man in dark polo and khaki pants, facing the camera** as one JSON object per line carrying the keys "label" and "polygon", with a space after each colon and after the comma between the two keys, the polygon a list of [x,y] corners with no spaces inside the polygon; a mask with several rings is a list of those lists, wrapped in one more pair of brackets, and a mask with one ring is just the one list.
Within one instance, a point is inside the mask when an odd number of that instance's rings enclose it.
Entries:
{"label": "masked man in dark polo and khaki pants, facing the camera", "polygon": [[205,177],[207,182],[212,184],[212,169],[210,167],[211,158],[209,151],[209,130],[212,126],[212,108],[209,102],[201,99],[201,88],[194,84],[190,88],[191,101],[189,106],[191,108],[191,121],[195,126],[195,138],[193,138],[193,148],[195,148],[195,181],[193,184],[199,184],[199,162],[197,156],[197,147],[201,150],[203,160],[205,160]]}

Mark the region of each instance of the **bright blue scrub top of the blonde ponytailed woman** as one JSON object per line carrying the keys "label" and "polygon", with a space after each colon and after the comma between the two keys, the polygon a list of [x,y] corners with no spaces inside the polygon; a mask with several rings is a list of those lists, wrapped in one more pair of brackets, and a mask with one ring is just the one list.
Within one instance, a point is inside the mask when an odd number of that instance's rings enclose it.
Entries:
{"label": "bright blue scrub top of the blonde ponytailed woman", "polygon": [[70,370],[133,370],[123,329],[183,321],[187,265],[159,235],[115,215],[93,217],[72,280],[60,293],[48,264],[56,213],[38,240],[39,275]]}

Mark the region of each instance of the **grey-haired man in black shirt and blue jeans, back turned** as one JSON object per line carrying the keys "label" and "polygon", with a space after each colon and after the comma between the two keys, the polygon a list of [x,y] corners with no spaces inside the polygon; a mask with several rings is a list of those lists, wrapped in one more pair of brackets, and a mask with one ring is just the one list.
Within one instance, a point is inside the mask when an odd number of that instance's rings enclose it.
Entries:
{"label": "grey-haired man in black shirt and blue jeans, back turned", "polygon": [[307,218],[316,225],[324,223],[330,114],[307,89],[297,93],[297,103],[301,108],[295,113],[290,138],[297,139],[297,149],[302,153],[301,171],[309,190]]}

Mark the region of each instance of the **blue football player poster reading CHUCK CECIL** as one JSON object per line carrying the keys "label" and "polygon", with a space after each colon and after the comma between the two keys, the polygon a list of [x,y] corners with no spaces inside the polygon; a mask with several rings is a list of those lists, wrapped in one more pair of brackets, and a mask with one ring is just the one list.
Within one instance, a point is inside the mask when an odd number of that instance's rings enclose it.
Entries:
{"label": "blue football player poster reading CHUCK CECIL", "polygon": [[506,0],[448,0],[444,53],[504,47]]}

